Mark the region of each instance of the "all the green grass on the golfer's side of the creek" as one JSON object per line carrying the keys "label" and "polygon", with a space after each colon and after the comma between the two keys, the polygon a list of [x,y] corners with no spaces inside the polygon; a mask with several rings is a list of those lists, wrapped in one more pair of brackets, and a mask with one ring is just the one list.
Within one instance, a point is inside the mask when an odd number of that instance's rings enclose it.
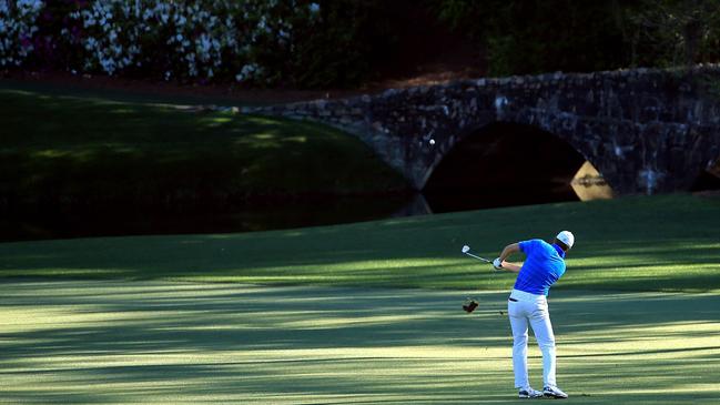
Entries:
{"label": "all the green grass on the golfer's side of the creek", "polygon": [[[493,257],[569,229],[576,245],[550,294],[569,402],[717,403],[719,219],[717,199],[675,194],[0,243],[0,402],[514,402],[514,276],[460,247]],[[471,315],[466,296],[480,301]],[[530,355],[539,386],[535,345]]]}

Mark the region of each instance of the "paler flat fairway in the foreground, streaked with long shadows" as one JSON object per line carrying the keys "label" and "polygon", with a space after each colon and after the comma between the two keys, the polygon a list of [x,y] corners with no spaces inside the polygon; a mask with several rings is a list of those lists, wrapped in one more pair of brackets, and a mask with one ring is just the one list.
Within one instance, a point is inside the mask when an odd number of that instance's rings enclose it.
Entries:
{"label": "paler flat fairway in the foreground, streaked with long shadows", "polygon": [[[6,282],[0,403],[473,404],[516,399],[506,292]],[[578,404],[713,403],[717,294],[556,292]],[[530,377],[541,384],[539,351]]]}

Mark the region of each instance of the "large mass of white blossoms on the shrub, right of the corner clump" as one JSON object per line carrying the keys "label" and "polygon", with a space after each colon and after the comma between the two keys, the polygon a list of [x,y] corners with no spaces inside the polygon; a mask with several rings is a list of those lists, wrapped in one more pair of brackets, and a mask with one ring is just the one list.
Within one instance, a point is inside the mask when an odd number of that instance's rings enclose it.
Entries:
{"label": "large mass of white blossoms on the shrub, right of the corner clump", "polygon": [[[271,48],[287,43],[293,27],[278,1],[94,1],[70,13],[70,26],[82,36],[82,71],[108,74],[149,67],[165,80],[211,80],[215,75],[257,82],[263,69],[253,59],[258,37],[274,39]],[[313,8],[305,12],[312,19]],[[62,37],[71,32],[62,29]]]}

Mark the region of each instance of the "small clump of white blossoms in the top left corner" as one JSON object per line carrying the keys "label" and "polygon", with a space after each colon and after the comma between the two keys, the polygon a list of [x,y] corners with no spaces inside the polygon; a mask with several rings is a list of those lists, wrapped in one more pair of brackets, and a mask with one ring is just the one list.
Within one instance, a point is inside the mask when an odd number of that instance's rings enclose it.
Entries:
{"label": "small clump of white blossoms in the top left corner", "polygon": [[19,67],[32,52],[36,20],[43,6],[39,0],[0,0],[0,67]]}

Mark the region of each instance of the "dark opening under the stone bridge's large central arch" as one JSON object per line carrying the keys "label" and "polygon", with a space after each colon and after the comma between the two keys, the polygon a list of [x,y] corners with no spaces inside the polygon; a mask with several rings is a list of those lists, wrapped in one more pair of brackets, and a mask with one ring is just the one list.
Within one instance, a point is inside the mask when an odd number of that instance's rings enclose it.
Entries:
{"label": "dark opening under the stone bridge's large central arch", "polygon": [[[587,158],[535,125],[490,122],[467,131],[430,170],[423,193],[434,211],[460,211],[607,196]],[[592,168],[592,165],[590,165]],[[602,188],[602,190],[600,190]],[[579,191],[579,192],[578,192]]]}

